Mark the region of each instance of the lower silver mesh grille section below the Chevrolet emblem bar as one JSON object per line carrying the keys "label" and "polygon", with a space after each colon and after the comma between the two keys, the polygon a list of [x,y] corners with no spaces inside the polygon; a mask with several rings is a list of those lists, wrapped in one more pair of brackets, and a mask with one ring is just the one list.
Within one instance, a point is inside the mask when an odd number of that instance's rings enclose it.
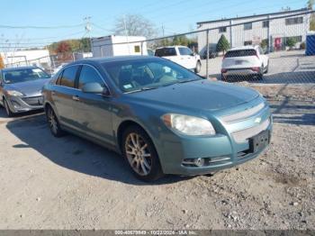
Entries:
{"label": "lower silver mesh grille section below the Chevrolet emblem bar", "polygon": [[269,124],[270,124],[270,118],[266,119],[265,122],[260,123],[256,126],[253,126],[253,127],[250,127],[250,128],[245,129],[245,130],[238,131],[238,132],[232,132],[232,137],[233,137],[234,141],[236,141],[238,143],[247,141],[247,139],[254,137],[259,132],[266,131]]}

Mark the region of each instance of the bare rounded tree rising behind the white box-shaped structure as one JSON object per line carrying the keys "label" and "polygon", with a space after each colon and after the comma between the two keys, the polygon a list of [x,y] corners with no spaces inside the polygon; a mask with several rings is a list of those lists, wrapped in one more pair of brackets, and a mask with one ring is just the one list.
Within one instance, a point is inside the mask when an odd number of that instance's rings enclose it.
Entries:
{"label": "bare rounded tree rising behind the white box-shaped structure", "polygon": [[112,32],[126,35],[126,31],[129,36],[144,36],[147,39],[157,36],[155,25],[139,14],[127,14],[116,19]]}

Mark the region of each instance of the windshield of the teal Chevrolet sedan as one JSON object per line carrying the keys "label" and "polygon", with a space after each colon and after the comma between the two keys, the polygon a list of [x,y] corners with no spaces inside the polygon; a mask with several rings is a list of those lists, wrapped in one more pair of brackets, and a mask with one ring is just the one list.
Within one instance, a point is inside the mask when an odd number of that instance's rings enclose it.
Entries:
{"label": "windshield of the teal Chevrolet sedan", "polygon": [[106,62],[103,63],[103,68],[123,93],[203,78],[166,59],[130,59]]}

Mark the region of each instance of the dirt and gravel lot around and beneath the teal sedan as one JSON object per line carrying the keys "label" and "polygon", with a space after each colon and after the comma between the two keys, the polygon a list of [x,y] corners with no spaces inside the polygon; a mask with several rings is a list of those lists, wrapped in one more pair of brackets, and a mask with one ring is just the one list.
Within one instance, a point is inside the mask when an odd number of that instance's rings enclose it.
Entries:
{"label": "dirt and gravel lot around and beneath the teal sedan", "polygon": [[313,98],[269,95],[275,130],[259,159],[152,185],[108,150],[53,138],[41,113],[0,109],[0,228],[314,230]]}

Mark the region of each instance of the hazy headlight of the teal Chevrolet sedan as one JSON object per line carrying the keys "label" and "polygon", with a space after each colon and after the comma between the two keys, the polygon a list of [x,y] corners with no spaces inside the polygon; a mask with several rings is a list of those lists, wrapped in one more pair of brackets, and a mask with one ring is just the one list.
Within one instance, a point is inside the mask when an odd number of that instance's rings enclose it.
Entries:
{"label": "hazy headlight of the teal Chevrolet sedan", "polygon": [[208,120],[199,117],[166,113],[162,116],[162,120],[167,127],[185,135],[200,136],[215,134],[212,124]]}

